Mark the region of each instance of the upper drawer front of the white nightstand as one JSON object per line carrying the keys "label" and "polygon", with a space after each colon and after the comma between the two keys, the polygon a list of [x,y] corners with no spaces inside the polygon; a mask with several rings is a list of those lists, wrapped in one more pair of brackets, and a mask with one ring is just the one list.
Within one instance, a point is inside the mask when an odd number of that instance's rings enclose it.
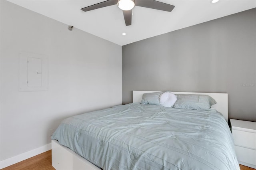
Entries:
{"label": "upper drawer front of the white nightstand", "polygon": [[233,130],[235,145],[256,150],[256,133]]}

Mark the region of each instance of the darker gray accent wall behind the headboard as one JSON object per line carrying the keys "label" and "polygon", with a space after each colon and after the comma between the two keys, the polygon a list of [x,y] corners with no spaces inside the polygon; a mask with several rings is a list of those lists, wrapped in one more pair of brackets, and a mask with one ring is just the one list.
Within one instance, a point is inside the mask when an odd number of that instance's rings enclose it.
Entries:
{"label": "darker gray accent wall behind the headboard", "polygon": [[132,90],[228,93],[229,117],[256,121],[256,8],[122,47]]}

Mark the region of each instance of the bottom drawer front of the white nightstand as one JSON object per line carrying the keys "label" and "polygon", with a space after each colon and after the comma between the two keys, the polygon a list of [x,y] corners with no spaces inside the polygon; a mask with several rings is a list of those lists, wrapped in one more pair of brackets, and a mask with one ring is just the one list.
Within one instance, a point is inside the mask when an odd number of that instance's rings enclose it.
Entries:
{"label": "bottom drawer front of the white nightstand", "polygon": [[[235,146],[235,150],[238,162],[240,164],[243,164],[242,162],[245,162],[254,166],[256,165],[256,150],[243,148],[240,146]],[[248,166],[247,164],[246,166]]]}

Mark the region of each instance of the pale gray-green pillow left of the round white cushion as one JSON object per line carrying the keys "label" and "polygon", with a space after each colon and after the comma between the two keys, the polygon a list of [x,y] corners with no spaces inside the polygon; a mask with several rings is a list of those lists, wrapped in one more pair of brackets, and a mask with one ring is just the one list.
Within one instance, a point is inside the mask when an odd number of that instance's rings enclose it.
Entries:
{"label": "pale gray-green pillow left of the round white cushion", "polygon": [[159,96],[164,93],[163,91],[160,92],[154,92],[154,93],[144,93],[142,96],[141,104],[144,105],[158,105],[159,103]]}

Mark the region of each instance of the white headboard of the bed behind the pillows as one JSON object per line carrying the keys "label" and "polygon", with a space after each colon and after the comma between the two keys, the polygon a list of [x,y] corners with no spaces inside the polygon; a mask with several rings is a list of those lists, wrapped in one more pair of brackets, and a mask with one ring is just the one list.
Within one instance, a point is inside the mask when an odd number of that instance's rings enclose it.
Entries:
{"label": "white headboard of the bed behind the pillows", "polygon": [[[158,91],[132,91],[132,103],[140,102],[144,93],[153,93]],[[228,122],[228,93],[194,93],[194,92],[172,92],[174,94],[195,94],[195,95],[208,95],[215,99],[217,102],[212,105],[212,108],[222,113]]]}

